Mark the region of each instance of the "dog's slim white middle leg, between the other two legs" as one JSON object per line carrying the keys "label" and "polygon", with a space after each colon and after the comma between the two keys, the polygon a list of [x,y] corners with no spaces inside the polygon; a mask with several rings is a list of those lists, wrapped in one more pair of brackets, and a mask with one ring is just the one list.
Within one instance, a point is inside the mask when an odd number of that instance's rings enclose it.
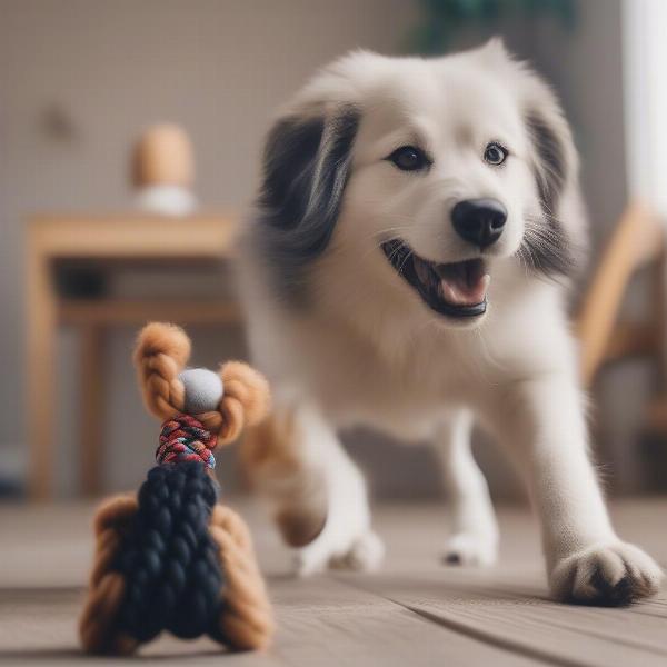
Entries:
{"label": "dog's slim white middle leg, between the other two legs", "polygon": [[434,441],[451,501],[451,534],[442,555],[448,565],[492,565],[498,552],[498,526],[486,479],[472,457],[471,430],[472,415],[460,410]]}

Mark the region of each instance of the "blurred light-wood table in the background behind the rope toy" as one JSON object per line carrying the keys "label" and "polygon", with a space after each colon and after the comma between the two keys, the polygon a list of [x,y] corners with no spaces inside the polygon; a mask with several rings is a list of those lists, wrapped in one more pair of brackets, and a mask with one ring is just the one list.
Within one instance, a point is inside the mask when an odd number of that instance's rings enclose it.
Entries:
{"label": "blurred light-wood table in the background behind the rope toy", "polygon": [[231,216],[201,215],[185,219],[158,216],[39,216],[27,237],[27,415],[30,448],[30,496],[52,494],[56,418],[56,336],[61,322],[81,334],[81,469],[82,490],[100,489],[103,386],[101,331],[115,325],[141,325],[152,319],[178,323],[229,325],[240,321],[232,300],[128,300],[63,298],[56,286],[59,261],[86,261],[102,268],[150,262],[181,270],[191,262],[229,259],[236,221]]}

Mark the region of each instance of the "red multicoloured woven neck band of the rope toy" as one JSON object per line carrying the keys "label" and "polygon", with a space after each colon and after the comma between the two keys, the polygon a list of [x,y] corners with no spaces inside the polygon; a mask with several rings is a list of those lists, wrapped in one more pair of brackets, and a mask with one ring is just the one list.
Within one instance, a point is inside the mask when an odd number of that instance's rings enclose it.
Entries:
{"label": "red multicoloured woven neck band of the rope toy", "polygon": [[158,464],[199,461],[215,468],[211,449],[217,444],[218,436],[203,428],[201,421],[190,415],[177,415],[162,424],[156,460]]}

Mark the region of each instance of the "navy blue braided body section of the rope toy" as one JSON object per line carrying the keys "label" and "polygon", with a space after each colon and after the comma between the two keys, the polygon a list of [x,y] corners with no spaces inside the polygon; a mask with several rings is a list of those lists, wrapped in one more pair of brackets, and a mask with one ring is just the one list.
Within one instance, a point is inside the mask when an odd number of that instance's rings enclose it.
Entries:
{"label": "navy blue braided body section of the rope toy", "polygon": [[140,643],[162,630],[183,639],[208,634],[223,643],[223,573],[208,530],[216,482],[201,462],[156,466],[138,500],[113,567],[126,580],[119,628]]}

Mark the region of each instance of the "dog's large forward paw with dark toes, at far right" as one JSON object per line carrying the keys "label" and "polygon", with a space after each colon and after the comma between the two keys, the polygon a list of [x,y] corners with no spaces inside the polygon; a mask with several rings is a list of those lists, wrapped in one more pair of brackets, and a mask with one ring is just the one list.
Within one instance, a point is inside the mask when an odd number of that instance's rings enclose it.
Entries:
{"label": "dog's large forward paw with dark toes, at far right", "polygon": [[650,556],[616,541],[563,558],[549,580],[551,591],[563,601],[617,607],[656,594],[663,577]]}

